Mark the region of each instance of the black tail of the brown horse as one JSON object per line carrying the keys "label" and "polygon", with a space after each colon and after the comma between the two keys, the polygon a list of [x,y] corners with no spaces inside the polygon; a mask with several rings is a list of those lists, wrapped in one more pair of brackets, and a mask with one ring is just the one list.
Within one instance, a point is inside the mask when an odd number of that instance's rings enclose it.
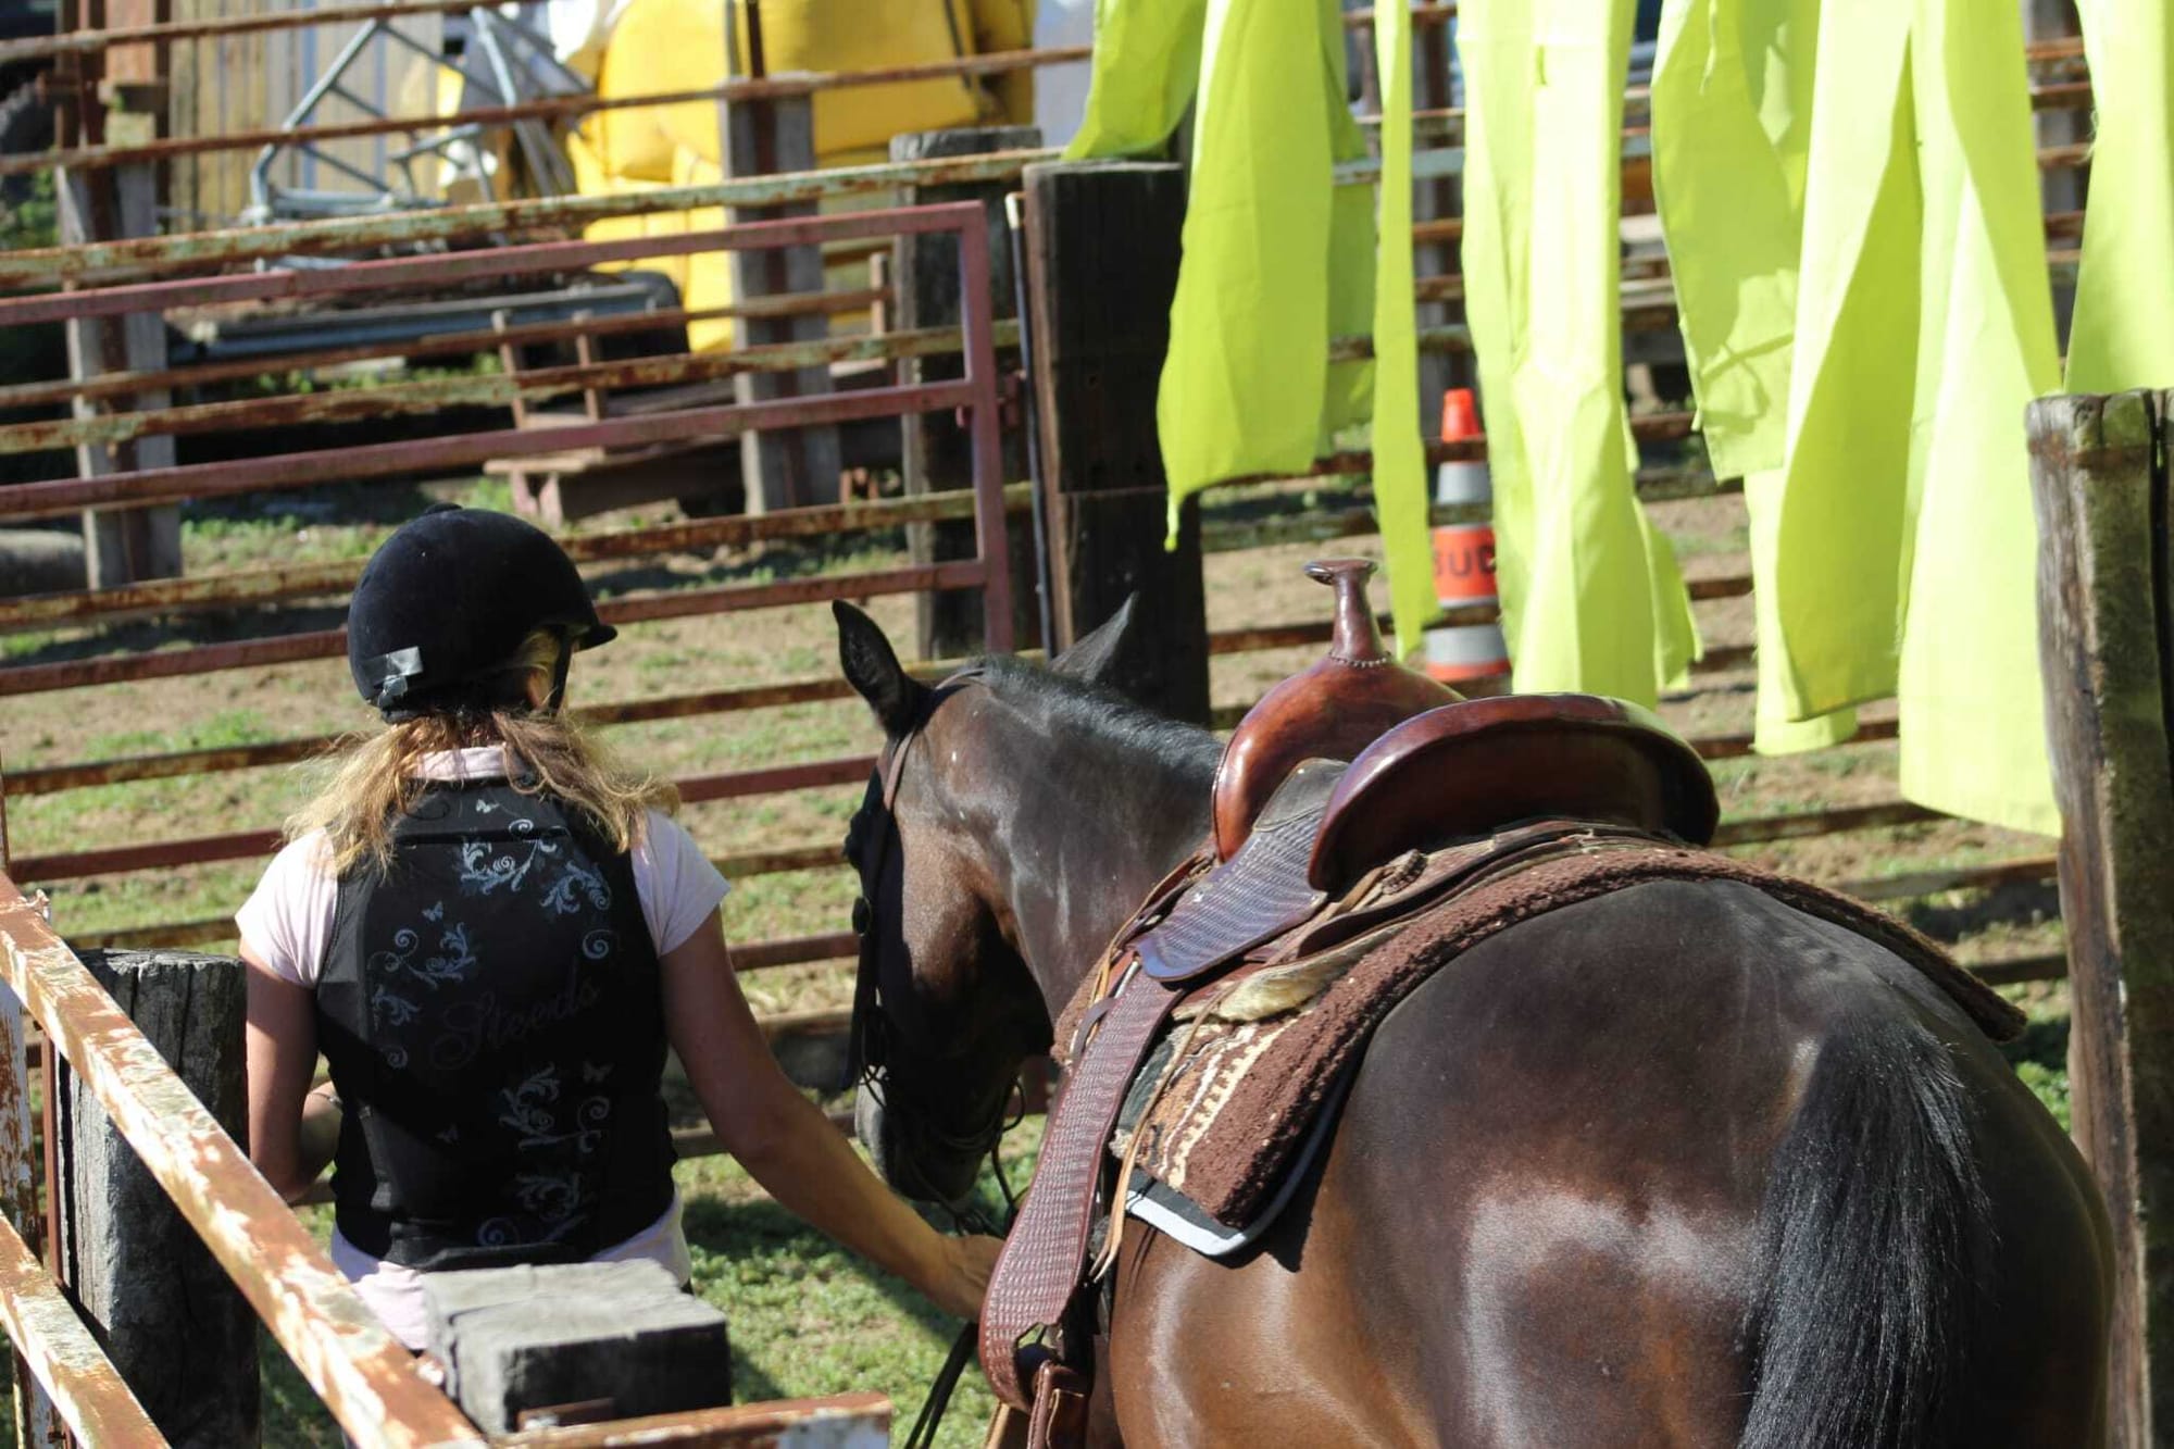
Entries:
{"label": "black tail of the brown horse", "polygon": [[1991,1203],[1963,1081],[1924,1023],[1833,1025],[1759,1216],[1741,1449],[1948,1442]]}

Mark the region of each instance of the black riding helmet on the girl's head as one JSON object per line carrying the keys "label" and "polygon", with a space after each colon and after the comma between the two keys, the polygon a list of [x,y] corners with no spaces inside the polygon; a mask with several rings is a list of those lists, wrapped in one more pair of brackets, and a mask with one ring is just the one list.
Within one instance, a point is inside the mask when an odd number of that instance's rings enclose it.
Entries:
{"label": "black riding helmet on the girl's head", "polygon": [[617,637],[596,616],[565,550],[511,513],[439,503],[400,527],[363,568],[348,603],[348,670],[387,720],[524,703],[507,666],[537,629],[567,655]]}

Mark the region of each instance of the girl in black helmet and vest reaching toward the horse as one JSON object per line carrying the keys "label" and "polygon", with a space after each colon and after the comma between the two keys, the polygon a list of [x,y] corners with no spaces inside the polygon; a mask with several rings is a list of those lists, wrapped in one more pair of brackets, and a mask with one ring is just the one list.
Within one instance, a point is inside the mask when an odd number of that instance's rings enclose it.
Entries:
{"label": "girl in black helmet and vest reaching toward the horse", "polygon": [[670,1042],[774,1199],[976,1316],[998,1240],[928,1227],[785,1079],[670,785],[561,714],[572,655],[615,633],[507,513],[439,505],[370,559],[348,664],[389,729],[235,918],[250,1157],[289,1201],[335,1162],[333,1262],[411,1349],[422,1273],[652,1258],[687,1281]]}

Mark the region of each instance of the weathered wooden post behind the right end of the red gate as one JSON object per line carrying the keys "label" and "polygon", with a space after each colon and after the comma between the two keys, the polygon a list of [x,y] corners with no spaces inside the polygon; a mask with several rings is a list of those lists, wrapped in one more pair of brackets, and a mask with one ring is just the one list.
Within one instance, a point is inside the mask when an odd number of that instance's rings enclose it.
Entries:
{"label": "weathered wooden post behind the right end of the red gate", "polygon": [[[937,161],[946,157],[978,157],[991,150],[1028,150],[1041,146],[1035,126],[967,126],[961,131],[909,131],[891,137],[891,161]],[[989,292],[998,318],[1020,315],[1015,272],[1011,265],[1011,231],[1004,226],[1002,181],[974,181],[935,187],[907,187],[907,207],[939,207],[944,202],[978,200],[989,215]],[[891,283],[896,307],[889,326],[959,326],[959,237],[935,233],[898,237],[891,244]],[[900,363],[904,383],[939,383],[965,374],[961,357],[909,357]],[[904,431],[907,494],[935,494],[974,485],[972,437],[950,416],[909,413]],[[1026,437],[1022,429],[1004,429],[1004,481],[1026,476]],[[1028,529],[1011,529],[1011,637],[1028,648],[1041,637],[1041,611],[1035,585],[1035,537]],[[941,564],[974,557],[974,520],[907,524],[907,550],[915,564]],[[915,646],[922,659],[959,659],[983,646],[980,596],[974,590],[924,592],[915,596]]]}

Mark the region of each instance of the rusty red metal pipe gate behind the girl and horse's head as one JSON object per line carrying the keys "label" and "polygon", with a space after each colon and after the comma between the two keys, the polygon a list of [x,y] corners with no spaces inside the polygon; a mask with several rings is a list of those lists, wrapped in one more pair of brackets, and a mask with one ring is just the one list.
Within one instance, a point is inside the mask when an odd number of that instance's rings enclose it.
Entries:
{"label": "rusty red metal pipe gate behind the girl and horse's head", "polygon": [[[900,237],[900,235],[957,235],[963,318],[954,329],[930,333],[891,333],[885,337],[841,337],[813,346],[767,346],[741,348],[713,357],[676,357],[663,366],[639,359],[635,363],[598,363],[570,370],[522,372],[517,383],[528,396],[576,387],[646,385],[657,381],[687,381],[691,376],[722,379],[748,368],[802,366],[809,357],[826,355],[885,355],[891,359],[948,352],[961,357],[965,376],[924,387],[874,387],[865,392],[835,394],[828,398],[791,398],[759,405],[722,405],[672,411],[648,411],[637,418],[587,424],[528,429],[485,435],[430,437],[398,444],[365,444],[335,453],[280,453],[272,457],[243,459],[237,463],[198,463],[163,470],[133,470],[98,479],[74,479],[59,483],[30,483],[0,492],[0,518],[37,518],[74,511],[89,503],[109,507],[148,507],[183,498],[257,494],[267,487],[317,487],[328,481],[357,476],[404,476],[415,472],[437,472],[461,463],[498,457],[524,457],[541,450],[565,450],[570,446],[600,446],[607,442],[654,444],[661,437],[717,439],[730,437],[748,426],[783,426],[811,420],[835,418],[887,418],[904,416],[911,409],[961,409],[970,429],[974,450],[974,487],[957,494],[935,494],[924,498],[844,503],[809,509],[783,509],[761,516],[685,520],[674,524],[652,524],[615,529],[609,533],[587,533],[565,540],[576,561],[594,564],[609,559],[639,559],[689,548],[746,546],[763,540],[826,537],[839,531],[894,529],[907,522],[972,520],[976,524],[976,553],[967,559],[933,561],[902,568],[830,570],[822,577],[780,579],[770,583],[724,583],[713,587],[646,590],[607,598],[600,614],[613,624],[685,618],[698,614],[728,614],[744,609],[767,609],[800,605],[826,598],[870,598],[880,594],[928,592],[928,590],[980,590],[985,605],[985,633],[994,648],[1011,646],[1011,607],[1007,572],[1007,524],[1004,513],[1028,505],[1026,487],[1004,490],[996,461],[996,409],[998,385],[994,355],[998,346],[1015,339],[1015,324],[1000,324],[991,315],[994,298],[989,287],[989,244],[985,213],[978,205],[924,207],[909,211],[865,211],[820,220],[757,222],[702,233],[678,239],[678,252],[757,246],[802,246],[837,239]],[[480,252],[491,259],[493,274],[585,265],[598,257],[620,257],[630,248],[611,244],[546,244],[537,248],[502,248]],[[659,250],[646,246],[644,250]],[[304,289],[320,292],[330,285],[335,296],[370,292],[391,285],[409,285],[417,278],[441,278],[443,257],[413,257],[370,268],[343,268],[320,274],[304,283]],[[470,263],[454,263],[470,265]],[[348,287],[348,281],[354,281]],[[152,283],[157,289],[163,283]],[[202,278],[185,283],[193,300],[230,300],[254,296],[265,283],[259,278]],[[274,281],[274,287],[287,287]],[[41,307],[59,307],[67,315],[122,315],[126,311],[172,300],[172,292],[143,289],[80,289],[57,298],[35,298]],[[43,313],[41,313],[43,315]],[[504,379],[478,379],[500,385]],[[370,394],[363,394],[365,398]],[[396,400],[400,394],[393,394]],[[441,405],[446,398],[474,400],[476,396],[498,396],[474,387],[424,387],[417,405]],[[307,400],[304,400],[307,403]],[[291,400],[250,400],[241,405],[198,405],[196,409],[163,409],[163,413],[115,416],[113,420],[87,420],[89,424],[120,422],[130,418],[148,420],[148,431],[220,431],[239,424],[263,424],[285,420],[296,411]],[[374,413],[372,413],[374,416]],[[17,439],[24,435],[17,433]],[[35,435],[39,442],[91,442],[91,429],[76,422],[63,424],[59,433]],[[111,442],[115,433],[100,433]],[[4,446],[4,444],[0,444]],[[85,624],[113,624],[130,618],[157,618],[204,609],[235,609],[252,605],[293,603],[304,598],[341,598],[359,577],[359,561],[296,564],[243,570],[237,574],[209,574],[193,579],[165,579],[133,583],[117,590],[76,590],[50,596],[30,596],[0,603],[0,629],[57,629]],[[143,683],[154,679],[178,679],[235,668],[265,668],[307,659],[339,657],[346,648],[341,631],[304,631],[270,637],[241,637],[220,644],[204,644],[178,651],[157,651],[150,655],[102,655],[85,659],[59,659],[17,664],[0,668],[0,694],[35,694],[48,690],[72,690],[98,683]],[[683,718],[704,711],[739,707],[763,707],[794,703],[802,698],[835,696],[839,685],[824,681],[811,688],[807,681],[783,681],[741,690],[711,690],[652,701],[624,701],[585,711],[589,718],[609,722],[637,722]],[[0,777],[0,788],[22,794],[46,794],[59,790],[80,790],[93,783],[120,783],[126,779],[172,779],[180,775],[259,768],[304,759],[322,751],[326,740],[267,740],[211,753],[167,753],[137,761],[78,761],[59,764],[13,779]],[[689,803],[728,801],[757,794],[837,785],[861,779],[870,770],[863,757],[826,759],[722,775],[696,775],[678,781],[680,794]],[[220,862],[261,855],[274,844],[272,831],[226,831],[215,838],[146,842],[135,846],[111,846],[98,851],[46,851],[17,853],[17,875],[24,879],[80,879],[85,872],[104,875],[120,870],[172,868],[185,862]],[[835,846],[824,853],[835,859]],[[735,870],[778,870],[807,868],[815,862],[809,849],[750,851],[730,857]],[[820,862],[828,864],[828,859]],[[196,929],[150,927],[135,931],[139,940],[202,940]],[[750,964],[787,964],[811,957],[811,946],[796,942],[757,942],[744,951]]]}

